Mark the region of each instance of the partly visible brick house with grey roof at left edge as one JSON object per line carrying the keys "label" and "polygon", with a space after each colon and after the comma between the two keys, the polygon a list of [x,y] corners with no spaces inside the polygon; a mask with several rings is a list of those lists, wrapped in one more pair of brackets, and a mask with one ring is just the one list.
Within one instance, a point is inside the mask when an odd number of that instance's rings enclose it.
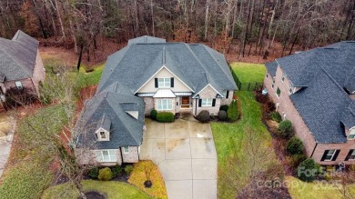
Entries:
{"label": "partly visible brick house with grey roof at left edge", "polygon": [[11,39],[0,38],[0,95],[15,88],[39,95],[38,85],[45,80],[45,68],[38,51],[38,41],[17,31]]}

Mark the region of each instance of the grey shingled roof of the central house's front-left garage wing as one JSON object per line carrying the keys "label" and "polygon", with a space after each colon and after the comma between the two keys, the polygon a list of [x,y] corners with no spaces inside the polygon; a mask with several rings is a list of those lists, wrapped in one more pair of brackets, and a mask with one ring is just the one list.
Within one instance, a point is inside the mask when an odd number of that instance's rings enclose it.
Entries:
{"label": "grey shingled roof of the central house's front-left garage wing", "polygon": [[[115,87],[115,86],[113,86]],[[119,146],[139,145],[142,142],[144,122],[143,100],[135,95],[112,93],[104,91],[94,95],[85,104],[85,109],[76,123],[76,147],[92,149],[116,149]],[[127,114],[127,111],[137,111],[138,118]],[[103,117],[111,121],[110,140],[96,141],[96,126]]]}

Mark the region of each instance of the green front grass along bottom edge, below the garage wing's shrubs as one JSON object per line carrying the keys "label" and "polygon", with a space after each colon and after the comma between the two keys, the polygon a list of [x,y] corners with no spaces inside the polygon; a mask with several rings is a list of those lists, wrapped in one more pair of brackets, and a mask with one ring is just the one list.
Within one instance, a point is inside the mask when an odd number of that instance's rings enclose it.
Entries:
{"label": "green front grass along bottom edge, below the garage wing's shrubs", "polygon": [[[134,186],[114,181],[85,180],[83,181],[83,188],[84,191],[97,191],[106,194],[107,199],[150,198]],[[72,184],[60,184],[48,188],[42,195],[42,199],[72,199],[77,196],[78,193]]]}

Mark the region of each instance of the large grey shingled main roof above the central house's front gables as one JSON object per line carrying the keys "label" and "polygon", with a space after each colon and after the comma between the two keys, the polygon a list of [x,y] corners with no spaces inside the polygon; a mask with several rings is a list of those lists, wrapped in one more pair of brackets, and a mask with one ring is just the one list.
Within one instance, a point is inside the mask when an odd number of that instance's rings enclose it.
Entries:
{"label": "large grey shingled main roof above the central house's front gables", "polygon": [[107,58],[97,93],[118,81],[136,92],[165,65],[194,93],[212,85],[218,93],[237,90],[223,55],[206,45],[131,44]]}

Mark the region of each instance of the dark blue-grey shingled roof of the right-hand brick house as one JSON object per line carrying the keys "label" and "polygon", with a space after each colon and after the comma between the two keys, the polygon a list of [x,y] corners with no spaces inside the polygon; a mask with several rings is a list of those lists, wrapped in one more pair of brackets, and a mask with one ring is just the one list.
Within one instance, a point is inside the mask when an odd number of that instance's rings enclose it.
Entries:
{"label": "dark blue-grey shingled roof of the right-hand brick house", "polygon": [[340,42],[276,60],[292,85],[304,87],[290,99],[319,143],[344,143],[344,125],[355,125],[355,104],[346,92],[355,87],[354,50],[354,42]]}

